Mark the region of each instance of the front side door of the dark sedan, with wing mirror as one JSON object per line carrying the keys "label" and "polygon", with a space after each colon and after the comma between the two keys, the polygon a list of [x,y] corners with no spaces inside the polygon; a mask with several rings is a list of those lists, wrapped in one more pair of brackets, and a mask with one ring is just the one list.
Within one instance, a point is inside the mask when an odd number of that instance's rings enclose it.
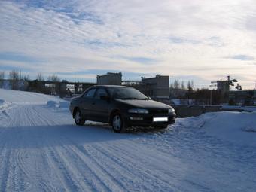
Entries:
{"label": "front side door of the dark sedan, with wing mirror", "polygon": [[108,123],[108,107],[109,107],[109,100],[108,100],[108,92],[105,88],[98,88],[96,90],[96,94],[94,96],[93,102],[93,118],[96,121],[102,121]]}

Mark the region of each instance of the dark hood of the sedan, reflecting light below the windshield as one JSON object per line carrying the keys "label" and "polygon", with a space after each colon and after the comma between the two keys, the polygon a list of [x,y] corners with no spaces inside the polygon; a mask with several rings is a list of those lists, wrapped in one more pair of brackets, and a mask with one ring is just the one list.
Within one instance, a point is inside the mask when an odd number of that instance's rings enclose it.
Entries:
{"label": "dark hood of the sedan, reflecting light below the windshield", "polygon": [[130,105],[133,108],[172,108],[170,105],[163,104],[162,102],[156,102],[154,100],[117,99],[117,102]]}

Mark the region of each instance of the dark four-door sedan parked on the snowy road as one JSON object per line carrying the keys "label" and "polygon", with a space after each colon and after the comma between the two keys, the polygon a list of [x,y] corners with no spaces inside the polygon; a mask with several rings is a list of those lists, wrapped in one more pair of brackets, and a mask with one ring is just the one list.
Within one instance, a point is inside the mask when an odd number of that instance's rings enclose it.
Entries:
{"label": "dark four-door sedan parked on the snowy road", "polygon": [[170,105],[156,102],[132,87],[93,86],[70,103],[77,125],[85,120],[110,123],[114,132],[123,133],[130,126],[153,126],[165,129],[175,123]]}

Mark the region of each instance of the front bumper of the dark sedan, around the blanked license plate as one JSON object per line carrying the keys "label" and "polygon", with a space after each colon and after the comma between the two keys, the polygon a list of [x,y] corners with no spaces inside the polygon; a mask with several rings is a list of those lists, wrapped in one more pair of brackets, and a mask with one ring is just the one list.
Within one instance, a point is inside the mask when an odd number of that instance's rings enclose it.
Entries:
{"label": "front bumper of the dark sedan, around the blanked license plate", "polygon": [[[168,121],[153,122],[154,117],[167,117]],[[125,114],[127,126],[167,126],[175,123],[176,114]]]}

